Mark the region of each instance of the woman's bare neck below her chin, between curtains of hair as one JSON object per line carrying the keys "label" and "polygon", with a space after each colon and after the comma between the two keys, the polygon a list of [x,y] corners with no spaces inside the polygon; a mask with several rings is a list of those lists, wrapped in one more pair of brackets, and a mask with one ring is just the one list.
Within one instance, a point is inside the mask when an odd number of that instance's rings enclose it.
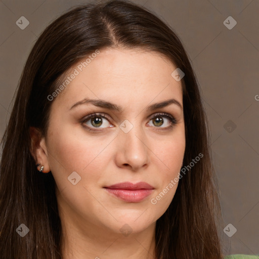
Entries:
{"label": "woman's bare neck below her chin, between curtains of hair", "polygon": [[154,259],[155,224],[128,236],[109,229],[62,224],[62,259]]}

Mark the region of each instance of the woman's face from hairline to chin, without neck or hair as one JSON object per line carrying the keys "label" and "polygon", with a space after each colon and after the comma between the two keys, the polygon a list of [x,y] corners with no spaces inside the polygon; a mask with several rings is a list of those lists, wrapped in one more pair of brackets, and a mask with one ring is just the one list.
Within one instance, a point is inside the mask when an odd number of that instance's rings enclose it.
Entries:
{"label": "woman's face from hairline to chin, without neck or hair", "polygon": [[168,208],[185,151],[176,68],[153,52],[100,50],[52,95],[40,159],[54,176],[61,213],[79,229],[137,233]]}

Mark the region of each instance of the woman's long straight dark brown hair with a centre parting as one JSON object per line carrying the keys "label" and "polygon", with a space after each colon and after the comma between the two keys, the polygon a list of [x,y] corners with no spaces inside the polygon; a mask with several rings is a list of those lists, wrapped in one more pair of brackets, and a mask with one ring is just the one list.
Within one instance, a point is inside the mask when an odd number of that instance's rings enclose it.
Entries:
{"label": "woman's long straight dark brown hair with a centre parting", "polygon": [[[37,171],[29,130],[36,127],[46,136],[53,103],[48,96],[73,65],[105,48],[154,51],[184,71],[183,165],[189,165],[199,153],[203,157],[179,180],[174,198],[156,222],[155,256],[221,259],[218,182],[198,81],[176,33],[146,8],[128,1],[73,7],[41,33],[29,54],[1,142],[1,258],[62,258],[56,183],[52,172]],[[16,233],[21,224],[29,228],[23,238]]]}

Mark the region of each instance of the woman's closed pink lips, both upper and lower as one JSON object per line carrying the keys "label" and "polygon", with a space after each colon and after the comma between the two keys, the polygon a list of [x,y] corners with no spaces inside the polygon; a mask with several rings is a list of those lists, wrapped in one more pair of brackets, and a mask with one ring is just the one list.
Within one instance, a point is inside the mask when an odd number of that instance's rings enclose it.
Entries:
{"label": "woman's closed pink lips, both upper and lower", "polygon": [[149,196],[154,189],[154,187],[145,182],[140,182],[137,184],[124,182],[104,188],[109,193],[127,202],[140,202]]}

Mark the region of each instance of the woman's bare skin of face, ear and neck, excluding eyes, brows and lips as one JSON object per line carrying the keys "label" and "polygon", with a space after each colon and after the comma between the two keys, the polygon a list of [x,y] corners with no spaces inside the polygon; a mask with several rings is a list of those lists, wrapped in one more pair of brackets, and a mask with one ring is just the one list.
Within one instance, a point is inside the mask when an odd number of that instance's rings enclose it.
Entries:
{"label": "woman's bare skin of face, ear and neck, excluding eyes, brows and lips", "polygon": [[[75,68],[77,64],[67,75]],[[47,135],[40,137],[31,128],[35,162],[44,165],[44,172],[51,170],[57,184],[63,259],[154,258],[155,224],[178,183],[156,204],[151,199],[180,172],[185,128],[183,110],[176,104],[154,111],[146,108],[170,98],[183,107],[181,81],[171,76],[176,68],[155,52],[100,50],[52,101]],[[93,104],[70,109],[84,98],[109,101],[122,111]],[[105,113],[108,119],[99,115],[99,127],[91,119],[81,122],[94,112]],[[159,115],[161,125],[152,120],[152,114],[161,112],[174,116],[177,123],[165,129],[168,118]],[[133,125],[128,133],[119,127],[125,119]],[[76,185],[68,181],[73,171],[81,177]],[[143,201],[131,203],[103,188],[121,182],[146,182],[154,190]],[[122,233],[123,226],[131,233]]]}

